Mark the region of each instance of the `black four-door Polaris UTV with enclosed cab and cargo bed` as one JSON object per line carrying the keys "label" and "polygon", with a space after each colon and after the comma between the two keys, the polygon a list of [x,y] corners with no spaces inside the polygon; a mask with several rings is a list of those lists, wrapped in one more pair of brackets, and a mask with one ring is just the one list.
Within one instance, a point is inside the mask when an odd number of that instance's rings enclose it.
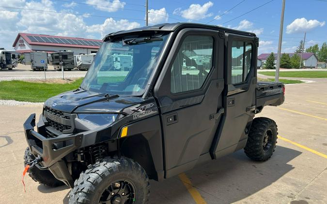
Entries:
{"label": "black four-door Polaris UTV with enclosed cab and cargo bed", "polygon": [[[110,33],[76,90],[48,99],[24,123],[35,181],[72,188],[71,204],[143,204],[162,181],[244,148],[268,160],[276,123],[254,118],[284,101],[257,83],[254,33],[192,23]],[[131,56],[117,69],[114,58]],[[254,118],[254,119],[253,119]]]}

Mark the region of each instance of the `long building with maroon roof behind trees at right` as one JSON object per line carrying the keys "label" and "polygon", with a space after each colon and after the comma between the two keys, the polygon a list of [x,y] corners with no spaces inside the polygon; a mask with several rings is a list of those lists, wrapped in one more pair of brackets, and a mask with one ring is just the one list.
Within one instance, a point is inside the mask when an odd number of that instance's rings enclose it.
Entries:
{"label": "long building with maroon roof behind trees at right", "polygon": [[[286,54],[288,54],[290,56],[290,58],[292,58],[292,56],[295,55],[295,53],[286,53]],[[258,56],[258,60],[262,61],[262,64],[264,64],[269,55],[270,55],[270,53],[261,54]],[[277,54],[274,54],[274,55],[275,55],[275,64],[276,64]],[[297,55],[301,56],[300,53]],[[314,53],[303,53],[302,60],[303,60],[303,64],[304,64],[305,68],[316,68],[317,67],[318,58]]]}

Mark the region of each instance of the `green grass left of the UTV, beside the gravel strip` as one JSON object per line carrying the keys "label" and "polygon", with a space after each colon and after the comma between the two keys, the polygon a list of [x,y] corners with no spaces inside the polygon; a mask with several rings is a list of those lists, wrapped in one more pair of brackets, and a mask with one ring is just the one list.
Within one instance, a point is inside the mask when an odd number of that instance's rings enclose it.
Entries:
{"label": "green grass left of the UTV, beside the gravel strip", "polygon": [[45,102],[48,98],[74,90],[82,83],[79,78],[71,83],[38,83],[26,81],[1,81],[0,99],[21,102]]}

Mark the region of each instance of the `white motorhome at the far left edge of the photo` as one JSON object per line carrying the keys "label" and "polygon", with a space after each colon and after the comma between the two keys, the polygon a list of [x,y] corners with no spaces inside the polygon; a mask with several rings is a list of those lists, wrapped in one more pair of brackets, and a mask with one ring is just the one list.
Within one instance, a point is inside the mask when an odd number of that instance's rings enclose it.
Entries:
{"label": "white motorhome at the far left edge of the photo", "polygon": [[0,69],[12,70],[17,67],[19,53],[15,50],[5,50],[0,48]]}

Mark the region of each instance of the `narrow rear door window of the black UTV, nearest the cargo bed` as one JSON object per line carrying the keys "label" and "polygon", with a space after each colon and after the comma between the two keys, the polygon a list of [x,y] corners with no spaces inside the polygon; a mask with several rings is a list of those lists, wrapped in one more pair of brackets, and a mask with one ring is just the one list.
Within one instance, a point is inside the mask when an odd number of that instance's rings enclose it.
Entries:
{"label": "narrow rear door window of the black UTV, nearest the cargo bed", "polygon": [[252,44],[233,41],[232,43],[232,84],[244,82],[251,69]]}

